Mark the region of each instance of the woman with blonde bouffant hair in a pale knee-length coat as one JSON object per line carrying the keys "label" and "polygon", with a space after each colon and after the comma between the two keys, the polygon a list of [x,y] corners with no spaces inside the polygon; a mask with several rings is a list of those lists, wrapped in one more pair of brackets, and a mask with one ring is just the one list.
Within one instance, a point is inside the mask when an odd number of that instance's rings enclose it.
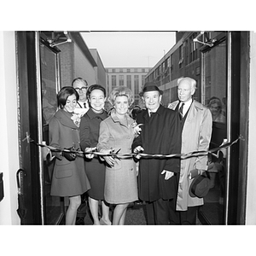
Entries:
{"label": "woman with blonde bouffant hair in a pale knee-length coat", "polygon": [[[107,119],[102,120],[97,149],[103,154],[131,153],[131,143],[135,137],[134,120],[128,114],[132,103],[132,92],[119,86],[110,93],[108,101],[113,110]],[[116,205],[113,211],[113,224],[125,224],[125,214],[129,203],[137,201],[137,172],[132,157],[114,158],[104,156],[107,162],[104,197]]]}

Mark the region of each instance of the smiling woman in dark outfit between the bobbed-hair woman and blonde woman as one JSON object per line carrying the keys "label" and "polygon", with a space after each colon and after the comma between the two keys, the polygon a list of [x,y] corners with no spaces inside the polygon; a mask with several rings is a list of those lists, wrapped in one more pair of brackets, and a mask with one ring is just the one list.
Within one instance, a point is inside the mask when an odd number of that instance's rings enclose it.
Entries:
{"label": "smiling woman in dark outfit between the bobbed-hair woman and blonde woman", "polygon": [[[106,101],[106,90],[99,84],[90,85],[87,90],[90,109],[81,119],[80,137],[81,148],[85,152],[96,149],[100,123],[108,117],[103,109]],[[105,163],[97,155],[85,154],[85,172],[89,178],[91,189],[88,191],[89,206],[94,224],[111,224],[109,207],[104,201]],[[102,202],[102,218],[99,220],[98,207]]]}

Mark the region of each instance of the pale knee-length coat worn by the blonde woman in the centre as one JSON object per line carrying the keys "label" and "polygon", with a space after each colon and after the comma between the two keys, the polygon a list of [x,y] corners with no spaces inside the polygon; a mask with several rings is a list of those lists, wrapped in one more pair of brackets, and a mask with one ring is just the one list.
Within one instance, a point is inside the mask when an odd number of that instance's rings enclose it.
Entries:
{"label": "pale knee-length coat worn by the blonde woman in the centre", "polygon": [[[97,149],[120,149],[119,154],[131,153],[131,143],[134,138],[134,122],[126,115],[128,125],[120,122],[114,110],[111,115],[102,120]],[[137,172],[133,158],[116,159],[113,167],[106,166],[105,200],[108,203],[119,204],[137,201]]]}

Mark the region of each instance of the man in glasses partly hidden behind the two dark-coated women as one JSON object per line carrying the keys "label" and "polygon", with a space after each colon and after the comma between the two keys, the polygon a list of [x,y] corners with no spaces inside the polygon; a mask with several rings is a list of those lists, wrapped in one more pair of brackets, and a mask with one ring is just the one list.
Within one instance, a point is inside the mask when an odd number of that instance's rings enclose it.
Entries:
{"label": "man in glasses partly hidden behind the two dark-coated women", "polygon": [[83,116],[89,110],[89,104],[86,98],[86,92],[88,89],[88,83],[86,80],[77,78],[73,79],[72,86],[79,93],[79,101],[75,109],[75,113],[79,113],[80,116]]}

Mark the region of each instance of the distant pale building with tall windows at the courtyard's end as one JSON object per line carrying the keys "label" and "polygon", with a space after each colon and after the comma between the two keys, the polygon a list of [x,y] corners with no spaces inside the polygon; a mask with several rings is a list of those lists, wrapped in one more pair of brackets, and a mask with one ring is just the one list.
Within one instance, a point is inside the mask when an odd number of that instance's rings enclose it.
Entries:
{"label": "distant pale building with tall windows at the courtyard's end", "polygon": [[134,93],[134,105],[142,105],[139,92],[143,90],[149,67],[107,67],[108,90],[124,85]]}

